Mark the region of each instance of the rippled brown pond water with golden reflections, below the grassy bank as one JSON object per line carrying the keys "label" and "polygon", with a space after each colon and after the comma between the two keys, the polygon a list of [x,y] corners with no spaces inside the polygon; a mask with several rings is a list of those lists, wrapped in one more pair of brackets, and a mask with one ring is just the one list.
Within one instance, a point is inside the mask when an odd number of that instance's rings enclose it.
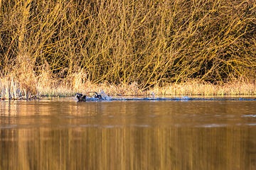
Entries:
{"label": "rippled brown pond water with golden reflections, below the grassy bank", "polygon": [[1,101],[0,169],[256,169],[249,99]]}

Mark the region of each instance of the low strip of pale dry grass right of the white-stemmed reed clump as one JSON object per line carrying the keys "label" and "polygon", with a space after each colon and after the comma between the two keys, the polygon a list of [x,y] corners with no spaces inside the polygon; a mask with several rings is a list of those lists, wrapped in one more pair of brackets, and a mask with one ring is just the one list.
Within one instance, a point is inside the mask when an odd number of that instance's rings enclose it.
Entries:
{"label": "low strip of pale dry grass right of the white-stemmed reed clump", "polygon": [[86,94],[88,91],[105,91],[110,96],[145,96],[152,93],[156,95],[202,95],[202,96],[225,96],[225,95],[256,95],[256,85],[246,82],[233,82],[227,84],[210,84],[206,82],[186,82],[179,84],[169,84],[166,86],[154,86],[143,91],[139,88],[136,82],[132,84],[92,84],[90,81],[85,81],[76,89],[68,88],[67,86],[55,86],[53,88],[41,88],[38,86],[38,91],[41,91],[43,96],[73,96],[79,92]]}

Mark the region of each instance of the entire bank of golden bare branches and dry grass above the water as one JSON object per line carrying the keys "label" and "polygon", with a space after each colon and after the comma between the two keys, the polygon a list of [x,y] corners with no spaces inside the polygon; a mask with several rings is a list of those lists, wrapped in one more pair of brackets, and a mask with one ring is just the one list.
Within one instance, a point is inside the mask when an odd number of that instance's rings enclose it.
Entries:
{"label": "entire bank of golden bare branches and dry grass above the water", "polygon": [[0,1],[0,70],[10,75],[2,88],[255,94],[255,8],[253,0]]}

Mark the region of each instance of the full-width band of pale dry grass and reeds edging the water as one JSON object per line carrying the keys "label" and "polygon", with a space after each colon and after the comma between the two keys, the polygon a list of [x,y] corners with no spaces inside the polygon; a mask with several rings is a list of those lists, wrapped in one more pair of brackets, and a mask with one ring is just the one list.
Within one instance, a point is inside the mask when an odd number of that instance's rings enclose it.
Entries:
{"label": "full-width band of pale dry grass and reeds edging the water", "polygon": [[76,93],[86,94],[89,91],[104,91],[108,96],[254,96],[256,85],[245,81],[228,82],[225,84],[211,84],[209,82],[191,81],[166,86],[153,86],[142,91],[136,82],[132,84],[92,84],[90,81],[70,82],[65,81],[38,81],[36,84],[23,84],[14,78],[0,79],[1,99],[31,98],[34,96],[45,97],[71,97]]}

